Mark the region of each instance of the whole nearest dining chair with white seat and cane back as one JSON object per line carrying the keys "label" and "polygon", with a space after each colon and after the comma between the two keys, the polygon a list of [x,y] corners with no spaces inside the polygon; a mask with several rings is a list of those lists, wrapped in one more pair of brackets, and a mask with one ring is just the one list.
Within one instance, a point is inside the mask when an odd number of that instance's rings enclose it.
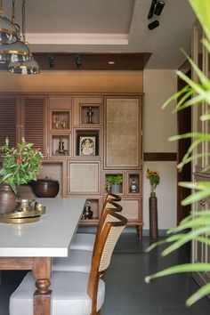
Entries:
{"label": "whole nearest dining chair with white seat and cane back", "polygon": [[[97,315],[104,301],[105,285],[101,274],[107,270],[113,249],[127,220],[110,213],[94,247],[90,273],[52,272],[52,315]],[[35,280],[28,272],[11,295],[10,315],[32,315]]]}

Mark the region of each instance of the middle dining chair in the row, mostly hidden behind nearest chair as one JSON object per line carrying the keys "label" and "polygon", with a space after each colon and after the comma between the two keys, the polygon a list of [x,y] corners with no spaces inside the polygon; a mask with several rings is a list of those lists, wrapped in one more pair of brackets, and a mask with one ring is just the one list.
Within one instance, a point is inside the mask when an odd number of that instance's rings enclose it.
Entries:
{"label": "middle dining chair in the row, mostly hidden behind nearest chair", "polygon": [[[114,201],[106,201],[103,212],[101,214],[100,224],[96,233],[94,246],[97,246],[97,238],[103,229],[106,222],[107,215],[111,212],[121,212],[122,206],[118,205]],[[54,257],[52,259],[52,271],[81,271],[90,272],[92,262],[93,251],[71,249],[69,250],[68,257]]]}

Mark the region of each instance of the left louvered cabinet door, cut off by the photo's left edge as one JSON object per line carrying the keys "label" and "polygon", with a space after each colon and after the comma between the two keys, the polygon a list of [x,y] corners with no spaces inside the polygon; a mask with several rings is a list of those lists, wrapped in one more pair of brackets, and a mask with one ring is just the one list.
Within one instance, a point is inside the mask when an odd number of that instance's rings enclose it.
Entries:
{"label": "left louvered cabinet door, cut off by the photo's left edge", "polygon": [[0,146],[7,137],[10,147],[15,147],[19,140],[19,101],[17,96],[0,95]]}

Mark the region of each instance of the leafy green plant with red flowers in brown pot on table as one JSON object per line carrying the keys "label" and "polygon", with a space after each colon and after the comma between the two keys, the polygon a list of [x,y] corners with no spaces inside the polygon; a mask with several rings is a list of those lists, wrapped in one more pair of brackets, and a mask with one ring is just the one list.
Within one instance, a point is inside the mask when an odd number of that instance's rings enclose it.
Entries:
{"label": "leafy green plant with red flowers in brown pot on table", "polygon": [[40,148],[27,143],[24,138],[16,148],[9,147],[9,139],[0,147],[3,163],[0,170],[0,212],[12,212],[16,203],[17,189],[21,184],[36,181],[41,158]]}

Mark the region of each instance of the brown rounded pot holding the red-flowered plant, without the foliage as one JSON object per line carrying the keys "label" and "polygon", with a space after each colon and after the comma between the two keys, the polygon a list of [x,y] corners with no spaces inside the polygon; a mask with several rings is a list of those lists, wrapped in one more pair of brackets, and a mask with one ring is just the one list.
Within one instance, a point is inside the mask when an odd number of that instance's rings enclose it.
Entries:
{"label": "brown rounded pot holding the red-flowered plant, without the foliage", "polygon": [[0,214],[11,213],[16,205],[16,195],[10,185],[0,183]]}

